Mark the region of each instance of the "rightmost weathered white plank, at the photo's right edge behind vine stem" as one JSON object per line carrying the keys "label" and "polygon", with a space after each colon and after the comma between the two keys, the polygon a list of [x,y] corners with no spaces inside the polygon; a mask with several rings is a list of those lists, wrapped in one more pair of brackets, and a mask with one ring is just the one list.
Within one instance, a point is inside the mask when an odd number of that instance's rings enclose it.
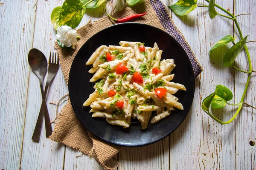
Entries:
{"label": "rightmost weathered white plank, at the photo's right edge behind vine stem", "polygon": [[[236,0],[235,14],[251,13],[250,15],[243,15],[237,17],[239,26],[243,36],[249,35],[247,41],[256,40],[256,1],[253,0]],[[250,7],[250,8],[248,8]],[[236,29],[237,30],[237,29]],[[236,34],[236,37],[238,35]],[[240,39],[238,39],[240,40]],[[236,40],[236,42],[238,41]],[[256,70],[256,42],[247,43],[247,47],[252,59],[253,69]],[[245,52],[241,52],[236,59],[236,67],[241,70],[247,71],[249,65]],[[256,106],[256,74],[252,73],[250,78],[247,94],[245,95],[244,102]],[[247,74],[235,71],[235,98],[236,103],[240,102],[244,86],[247,81]],[[236,107],[237,108],[237,107]],[[236,169],[256,170],[256,145],[251,146],[250,141],[256,143],[256,110],[250,107],[243,107],[236,118]]]}

